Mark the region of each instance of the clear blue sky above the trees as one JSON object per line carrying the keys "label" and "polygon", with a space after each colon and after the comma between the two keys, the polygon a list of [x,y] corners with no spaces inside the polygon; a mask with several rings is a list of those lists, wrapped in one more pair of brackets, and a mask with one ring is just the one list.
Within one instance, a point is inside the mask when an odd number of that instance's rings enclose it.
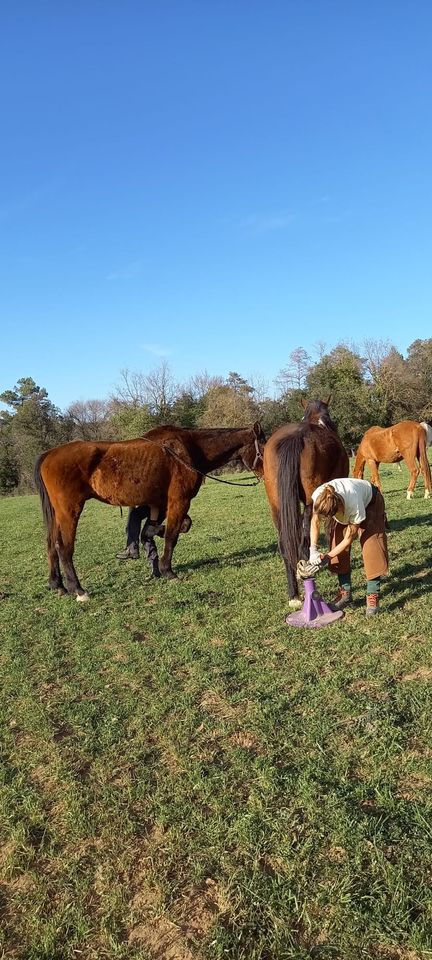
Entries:
{"label": "clear blue sky above the trees", "polygon": [[432,6],[15,0],[0,391],[432,336]]}

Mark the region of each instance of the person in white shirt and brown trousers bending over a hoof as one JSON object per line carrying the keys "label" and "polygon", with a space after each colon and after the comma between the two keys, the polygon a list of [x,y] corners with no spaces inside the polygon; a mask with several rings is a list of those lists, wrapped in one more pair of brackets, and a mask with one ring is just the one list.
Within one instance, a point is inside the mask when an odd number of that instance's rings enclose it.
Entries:
{"label": "person in white shirt and brown trousers bending over a hoof", "polygon": [[[330,570],[337,573],[339,591],[334,600],[335,608],[342,610],[352,601],[351,545],[358,537],[367,580],[366,616],[374,616],[379,610],[381,577],[388,573],[386,517],[380,490],[368,480],[343,477],[317,487],[312,501],[309,559],[313,563],[328,560]],[[329,522],[330,550],[327,554],[318,549],[323,521]]]}

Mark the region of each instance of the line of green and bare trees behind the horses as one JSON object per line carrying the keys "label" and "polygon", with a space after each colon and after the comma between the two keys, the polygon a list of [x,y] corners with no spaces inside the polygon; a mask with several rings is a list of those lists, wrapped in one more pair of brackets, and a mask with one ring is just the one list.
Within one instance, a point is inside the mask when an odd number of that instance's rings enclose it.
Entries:
{"label": "line of green and bare trees behind the horses", "polygon": [[127,440],[153,426],[237,427],[260,420],[267,436],[301,416],[301,397],[326,399],[347,449],[369,427],[432,417],[432,339],[414,340],[406,357],[388,341],[362,348],[317,345],[313,360],[293,350],[274,381],[273,395],[258,378],[199,373],[177,383],[164,361],[150,373],[124,370],[106,400],[76,401],[61,411],[31,377],[0,394],[0,495],[34,489],[40,453],[70,440]]}

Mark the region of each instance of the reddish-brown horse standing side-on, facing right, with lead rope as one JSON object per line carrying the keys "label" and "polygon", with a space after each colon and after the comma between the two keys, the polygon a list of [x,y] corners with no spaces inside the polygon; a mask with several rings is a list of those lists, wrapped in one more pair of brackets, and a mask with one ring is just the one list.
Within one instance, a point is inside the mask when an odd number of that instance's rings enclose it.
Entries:
{"label": "reddish-brown horse standing side-on, facing right, with lead rope", "polygon": [[88,599],[72,558],[78,520],[86,500],[91,499],[117,506],[157,507],[159,515],[166,517],[160,573],[175,577],[173,550],[204,476],[235,456],[247,469],[262,475],[264,443],[259,423],[238,430],[164,426],[137,440],[75,440],[43,453],[35,467],[35,481],[47,527],[50,588],[76,594],[77,600]]}

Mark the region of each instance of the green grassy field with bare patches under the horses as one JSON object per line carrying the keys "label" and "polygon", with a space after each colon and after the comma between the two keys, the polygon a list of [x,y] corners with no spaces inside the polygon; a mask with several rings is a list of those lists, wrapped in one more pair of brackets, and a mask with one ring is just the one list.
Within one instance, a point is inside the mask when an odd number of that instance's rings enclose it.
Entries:
{"label": "green grassy field with bare patches under the horses", "polygon": [[178,582],[88,504],[88,604],[46,589],[37,498],[0,502],[2,958],[432,957],[431,501],[382,477],[382,614],[356,546],[321,631],[284,624],[262,485],[205,484]]}

